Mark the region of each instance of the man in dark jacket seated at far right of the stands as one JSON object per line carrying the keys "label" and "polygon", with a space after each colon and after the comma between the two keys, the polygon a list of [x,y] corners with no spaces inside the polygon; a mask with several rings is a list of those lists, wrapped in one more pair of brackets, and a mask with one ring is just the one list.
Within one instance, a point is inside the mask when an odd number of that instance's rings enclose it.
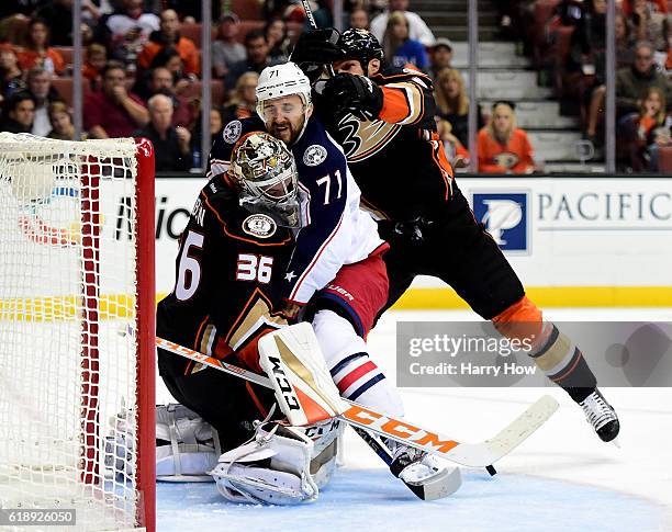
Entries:
{"label": "man in dark jacket seated at far right of the stands", "polygon": [[658,87],[665,101],[671,101],[672,83],[657,70],[653,63],[653,46],[646,41],[635,46],[635,63],[616,75],[616,114],[620,118],[637,113],[650,87]]}

